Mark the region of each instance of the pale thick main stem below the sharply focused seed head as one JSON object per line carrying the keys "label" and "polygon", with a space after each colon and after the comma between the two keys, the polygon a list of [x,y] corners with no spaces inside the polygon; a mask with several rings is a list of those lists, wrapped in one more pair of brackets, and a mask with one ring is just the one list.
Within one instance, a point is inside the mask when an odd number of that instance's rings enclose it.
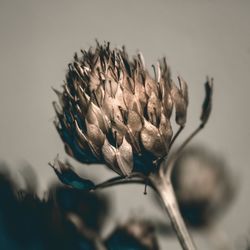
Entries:
{"label": "pale thick main stem below the sharply focused seed head", "polygon": [[155,174],[150,178],[154,189],[160,196],[165,209],[169,215],[172,227],[176,232],[178,240],[183,250],[195,250],[195,244],[188,232],[188,229],[180,214],[179,206],[176,201],[172,183],[169,182],[163,175]]}

